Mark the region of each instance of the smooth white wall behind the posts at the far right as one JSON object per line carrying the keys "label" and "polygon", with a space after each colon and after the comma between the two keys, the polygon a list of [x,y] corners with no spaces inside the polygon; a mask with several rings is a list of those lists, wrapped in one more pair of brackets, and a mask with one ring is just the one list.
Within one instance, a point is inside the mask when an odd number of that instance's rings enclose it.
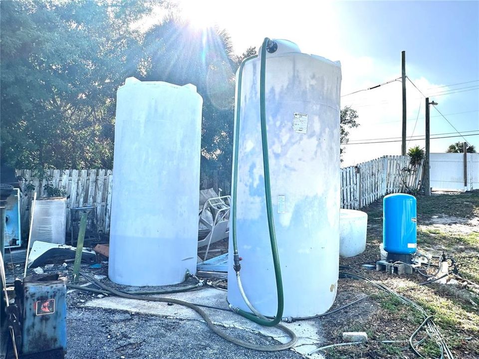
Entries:
{"label": "smooth white wall behind the posts at the far right", "polygon": [[464,187],[464,154],[432,153],[430,180],[433,189],[471,190],[479,188],[479,154],[468,155],[468,185]]}

